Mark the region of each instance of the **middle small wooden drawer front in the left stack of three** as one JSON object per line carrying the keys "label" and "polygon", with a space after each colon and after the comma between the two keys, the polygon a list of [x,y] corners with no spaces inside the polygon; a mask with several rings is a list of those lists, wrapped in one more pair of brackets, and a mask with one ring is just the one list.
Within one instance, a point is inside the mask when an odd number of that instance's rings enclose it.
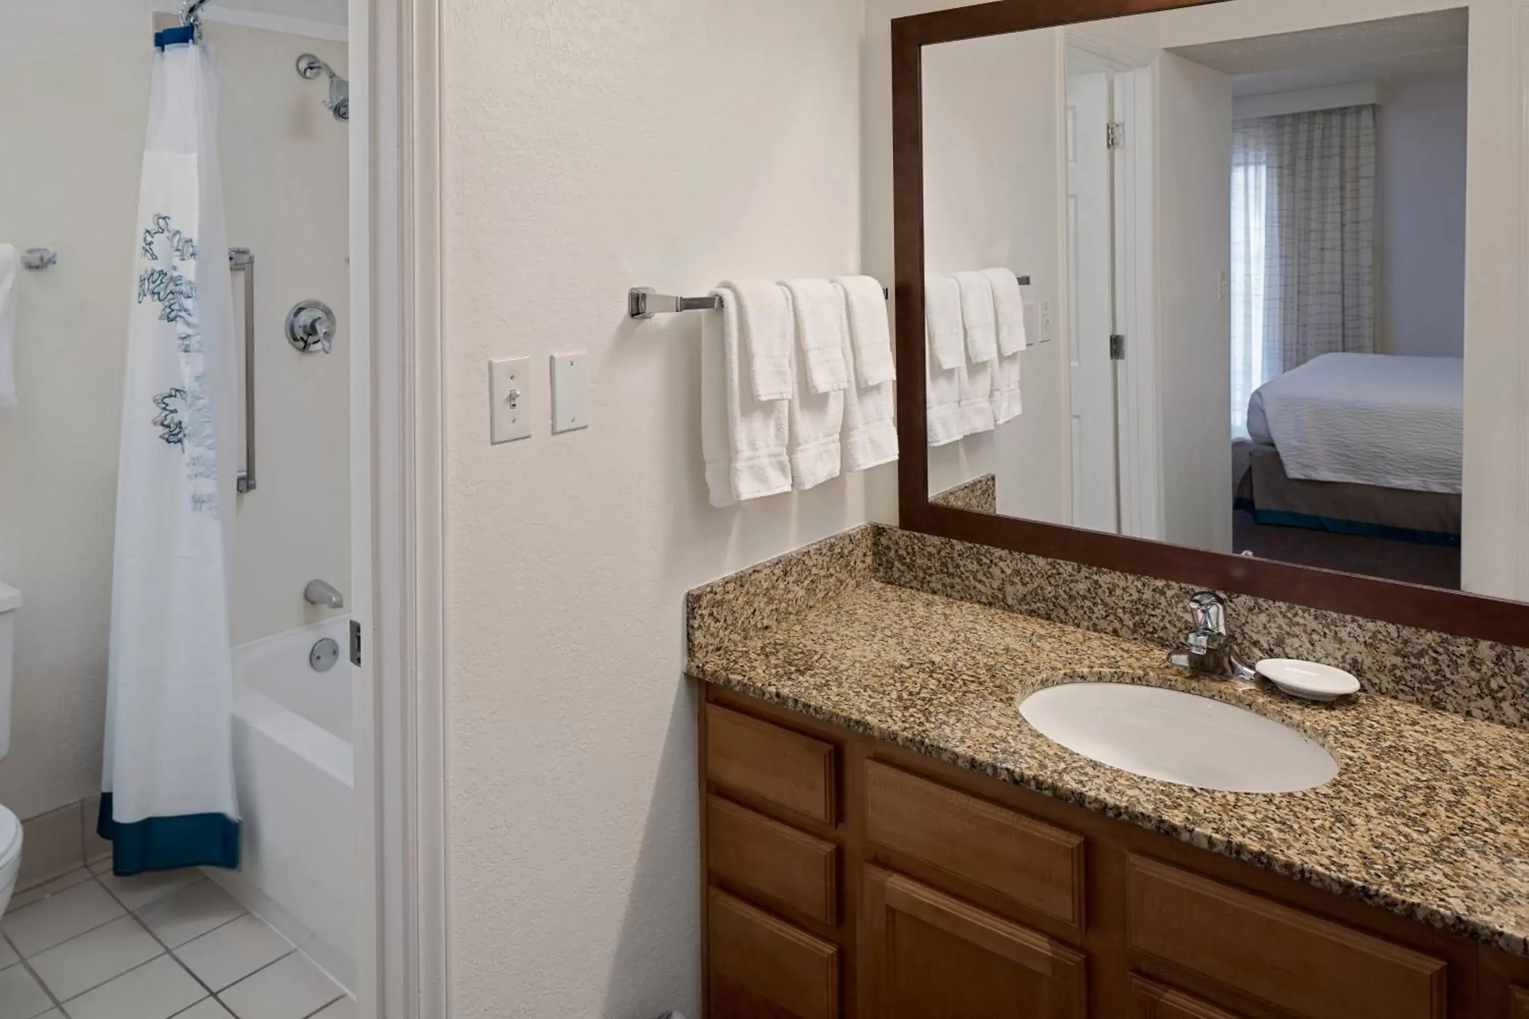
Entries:
{"label": "middle small wooden drawer front in the left stack of three", "polygon": [[706,797],[706,866],[803,917],[839,921],[839,849],[720,796]]}

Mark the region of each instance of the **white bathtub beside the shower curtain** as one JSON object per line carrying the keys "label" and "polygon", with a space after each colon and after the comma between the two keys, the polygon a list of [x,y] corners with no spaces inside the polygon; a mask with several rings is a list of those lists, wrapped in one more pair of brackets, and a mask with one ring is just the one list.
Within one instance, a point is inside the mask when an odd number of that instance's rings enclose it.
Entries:
{"label": "white bathtub beside the shower curtain", "polygon": [[[234,649],[234,782],[243,817],[237,872],[209,871],[330,976],[353,990],[355,755],[349,619]],[[329,672],[307,655],[332,637]]]}

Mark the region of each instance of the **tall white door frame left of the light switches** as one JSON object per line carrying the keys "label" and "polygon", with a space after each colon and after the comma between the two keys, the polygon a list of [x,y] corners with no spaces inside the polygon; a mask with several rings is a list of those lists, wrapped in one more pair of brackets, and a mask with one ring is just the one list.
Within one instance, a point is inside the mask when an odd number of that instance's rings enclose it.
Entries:
{"label": "tall white door frame left of the light switches", "polygon": [[[439,0],[350,0],[358,995],[450,1014]],[[370,509],[370,513],[365,512]]]}

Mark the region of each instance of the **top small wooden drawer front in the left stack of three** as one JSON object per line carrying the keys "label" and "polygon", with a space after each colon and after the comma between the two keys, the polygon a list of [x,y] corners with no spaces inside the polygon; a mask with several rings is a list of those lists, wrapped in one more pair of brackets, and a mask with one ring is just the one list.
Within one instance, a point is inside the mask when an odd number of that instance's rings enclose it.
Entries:
{"label": "top small wooden drawer front in the left stack of three", "polygon": [[826,825],[838,823],[832,742],[706,704],[706,778]]}

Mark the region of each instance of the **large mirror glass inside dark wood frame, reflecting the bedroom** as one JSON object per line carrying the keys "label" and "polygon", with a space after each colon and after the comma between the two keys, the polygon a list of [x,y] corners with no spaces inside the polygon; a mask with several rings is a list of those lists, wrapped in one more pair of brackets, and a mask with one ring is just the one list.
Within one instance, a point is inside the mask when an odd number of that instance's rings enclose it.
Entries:
{"label": "large mirror glass inside dark wood frame, reflecting the bedroom", "polygon": [[[1468,8],[1410,0],[1232,0],[925,47],[925,272],[1032,277],[1023,412],[951,438],[931,403],[931,498],[1511,587],[1486,552],[1517,518],[1509,387],[1488,379],[1517,362],[1517,296],[1485,283],[1511,243],[1491,209],[1520,191],[1491,170],[1494,61]],[[962,406],[986,377],[966,368]]]}

